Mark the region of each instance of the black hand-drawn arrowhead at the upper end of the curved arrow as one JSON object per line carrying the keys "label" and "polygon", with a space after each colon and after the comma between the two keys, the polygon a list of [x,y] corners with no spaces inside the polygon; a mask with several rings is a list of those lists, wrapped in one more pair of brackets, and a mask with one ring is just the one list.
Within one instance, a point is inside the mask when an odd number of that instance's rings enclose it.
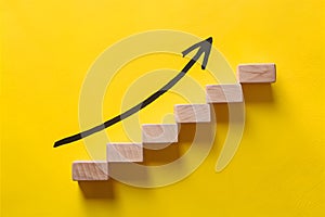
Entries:
{"label": "black hand-drawn arrowhead at the upper end of the curved arrow", "polygon": [[194,58],[192,60],[197,61],[199,59],[199,56],[204,53],[205,55],[204,55],[204,61],[202,63],[202,69],[206,69],[209,54],[211,51],[211,46],[212,46],[212,37],[209,37],[206,40],[195,43],[195,44],[191,46],[190,48],[187,48],[186,50],[184,50],[182,52],[183,58],[185,55],[187,55],[191,51],[198,48],[198,51],[196,52],[196,54],[194,55]]}

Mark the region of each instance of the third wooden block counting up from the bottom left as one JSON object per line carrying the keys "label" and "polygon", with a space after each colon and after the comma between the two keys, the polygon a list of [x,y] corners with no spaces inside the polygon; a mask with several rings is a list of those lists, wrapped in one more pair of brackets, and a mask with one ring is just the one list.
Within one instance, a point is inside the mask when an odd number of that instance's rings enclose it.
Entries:
{"label": "third wooden block counting up from the bottom left", "polygon": [[177,125],[142,125],[143,143],[172,143],[178,142]]}

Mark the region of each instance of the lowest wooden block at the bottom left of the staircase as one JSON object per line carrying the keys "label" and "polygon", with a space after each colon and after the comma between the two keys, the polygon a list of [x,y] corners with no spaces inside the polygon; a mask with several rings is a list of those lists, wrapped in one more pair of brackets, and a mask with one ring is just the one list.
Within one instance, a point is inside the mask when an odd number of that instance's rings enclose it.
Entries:
{"label": "lowest wooden block at the bottom left of the staircase", "polygon": [[73,163],[74,181],[108,180],[107,162],[77,161]]}

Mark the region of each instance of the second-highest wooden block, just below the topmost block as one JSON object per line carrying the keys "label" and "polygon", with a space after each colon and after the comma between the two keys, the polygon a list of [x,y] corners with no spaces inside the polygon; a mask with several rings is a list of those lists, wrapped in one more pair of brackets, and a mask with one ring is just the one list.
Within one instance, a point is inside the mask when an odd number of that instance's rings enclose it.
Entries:
{"label": "second-highest wooden block, just below the topmost block", "polygon": [[207,85],[208,103],[243,102],[243,90],[239,84]]}

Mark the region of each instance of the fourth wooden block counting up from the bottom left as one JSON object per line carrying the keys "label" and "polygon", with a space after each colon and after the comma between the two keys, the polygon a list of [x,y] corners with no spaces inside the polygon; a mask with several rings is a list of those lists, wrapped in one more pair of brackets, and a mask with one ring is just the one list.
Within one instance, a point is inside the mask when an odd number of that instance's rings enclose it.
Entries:
{"label": "fourth wooden block counting up from the bottom left", "polygon": [[209,104],[177,104],[173,112],[178,123],[208,123],[211,120]]}

